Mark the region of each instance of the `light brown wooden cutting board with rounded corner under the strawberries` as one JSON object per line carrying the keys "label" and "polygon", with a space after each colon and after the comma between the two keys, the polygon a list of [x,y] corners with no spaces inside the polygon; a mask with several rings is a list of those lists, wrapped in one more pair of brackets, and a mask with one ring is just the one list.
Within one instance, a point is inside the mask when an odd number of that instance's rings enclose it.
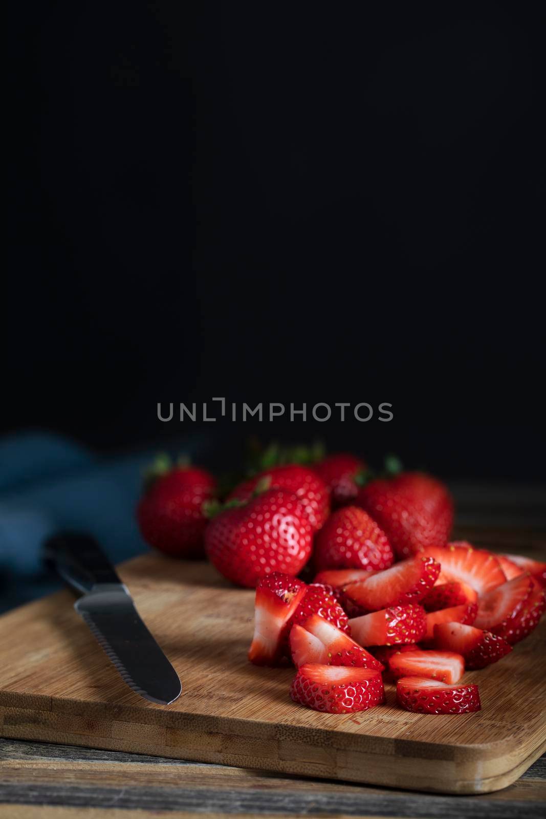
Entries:
{"label": "light brown wooden cutting board with rounded corner under the strawberries", "polygon": [[480,713],[408,713],[386,686],[384,706],[323,714],[291,701],[293,669],[248,663],[252,590],[156,554],[120,576],[180,675],[180,698],[160,706],[129,690],[62,591],[0,618],[4,737],[461,794],[506,787],[544,753],[546,621],[467,673]]}

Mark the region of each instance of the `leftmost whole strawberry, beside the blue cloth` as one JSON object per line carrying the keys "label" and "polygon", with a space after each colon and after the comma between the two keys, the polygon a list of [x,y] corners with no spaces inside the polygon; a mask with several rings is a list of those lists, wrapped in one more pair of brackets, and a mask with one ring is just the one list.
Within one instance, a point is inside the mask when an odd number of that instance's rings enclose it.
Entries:
{"label": "leftmost whole strawberry, beside the blue cloth", "polygon": [[138,526],[147,544],[179,558],[204,557],[208,523],[202,512],[216,489],[214,477],[196,467],[169,468],[151,483],[137,507]]}

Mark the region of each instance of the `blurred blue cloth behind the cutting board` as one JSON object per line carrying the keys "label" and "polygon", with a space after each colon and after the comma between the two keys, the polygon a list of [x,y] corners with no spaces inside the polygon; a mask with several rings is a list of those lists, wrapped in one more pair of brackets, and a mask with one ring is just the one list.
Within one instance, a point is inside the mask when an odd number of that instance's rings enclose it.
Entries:
{"label": "blurred blue cloth behind the cutting board", "polygon": [[[200,434],[167,448],[195,457]],[[22,433],[0,441],[0,611],[60,584],[44,571],[43,541],[61,529],[88,532],[112,563],[147,550],[135,507],[155,452],[99,459],[65,438]]]}

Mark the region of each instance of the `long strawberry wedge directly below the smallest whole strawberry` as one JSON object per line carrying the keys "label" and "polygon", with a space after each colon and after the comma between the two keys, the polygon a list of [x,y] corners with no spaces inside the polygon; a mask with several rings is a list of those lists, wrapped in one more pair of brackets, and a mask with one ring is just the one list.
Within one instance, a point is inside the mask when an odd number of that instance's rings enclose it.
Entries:
{"label": "long strawberry wedge directly below the smallest whole strawberry", "polygon": [[345,595],[368,612],[391,605],[418,603],[434,585],[440,563],[416,554],[396,563],[385,572],[377,572],[365,580],[345,586]]}

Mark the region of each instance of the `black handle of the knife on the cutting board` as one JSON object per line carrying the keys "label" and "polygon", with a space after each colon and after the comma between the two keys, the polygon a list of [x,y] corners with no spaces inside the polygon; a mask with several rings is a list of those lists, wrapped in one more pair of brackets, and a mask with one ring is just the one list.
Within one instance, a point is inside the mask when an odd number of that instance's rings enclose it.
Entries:
{"label": "black handle of the knife on the cutting board", "polygon": [[121,582],[106,554],[89,535],[61,532],[46,541],[43,554],[47,565],[79,593],[91,591],[97,583]]}

